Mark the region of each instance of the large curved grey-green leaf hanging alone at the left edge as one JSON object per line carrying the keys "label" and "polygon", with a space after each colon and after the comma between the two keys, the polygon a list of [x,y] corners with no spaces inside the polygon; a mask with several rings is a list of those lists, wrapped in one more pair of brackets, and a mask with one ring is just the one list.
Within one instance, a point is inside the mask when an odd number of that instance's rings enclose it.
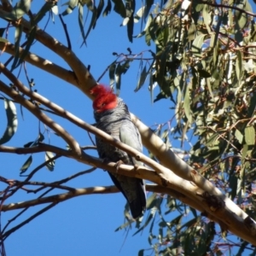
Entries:
{"label": "large curved grey-green leaf hanging alone at the left edge", "polygon": [[9,142],[9,140],[15,135],[18,127],[15,103],[8,99],[4,99],[4,108],[7,117],[7,126],[3,133],[3,137],[0,138],[0,145]]}

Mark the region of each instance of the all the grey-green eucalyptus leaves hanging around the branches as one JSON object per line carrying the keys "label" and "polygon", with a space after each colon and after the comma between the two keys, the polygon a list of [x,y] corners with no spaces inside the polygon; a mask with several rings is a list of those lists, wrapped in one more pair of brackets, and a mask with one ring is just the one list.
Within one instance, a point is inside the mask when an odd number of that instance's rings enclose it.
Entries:
{"label": "all the grey-green eucalyptus leaves hanging around the branches", "polygon": [[[20,1],[9,13],[0,13],[3,20],[17,21],[28,15],[32,24],[26,38],[24,52],[19,53],[23,27],[15,28],[15,57],[12,70],[19,67],[35,40],[36,27],[44,15],[51,13],[56,3],[48,1],[36,15],[30,15],[30,1]],[[152,100],[169,99],[174,109],[173,118],[157,125],[154,132],[172,147],[172,140],[178,139],[184,160],[204,177],[211,180],[226,195],[242,207],[249,216],[255,212],[256,148],[256,26],[250,3],[247,0],[224,4],[210,1],[162,1],[143,2],[136,12],[134,0],[125,1],[70,0],[62,15],[73,15],[78,8],[79,28],[83,44],[96,28],[101,15],[109,15],[112,8],[123,19],[127,27],[127,38],[144,38],[149,50],[141,53],[119,54],[108,66],[110,84],[116,92],[121,90],[122,77],[136,61],[139,62],[139,76],[135,91],[148,84],[151,97],[159,88],[159,94]],[[89,24],[84,22],[84,10],[90,14]],[[144,28],[133,34],[137,22]],[[1,42],[6,28],[1,31]],[[154,50],[152,45],[154,45]],[[16,131],[13,102],[4,99],[8,125],[0,143],[7,143]],[[33,102],[35,103],[35,102]],[[172,126],[172,128],[171,128]],[[189,139],[189,137],[191,139]],[[39,133],[35,142],[27,143],[29,148],[42,143]],[[179,152],[177,152],[179,153]],[[155,160],[154,155],[149,155]],[[21,173],[32,164],[32,155],[21,166]],[[54,170],[55,156],[46,152],[45,163],[49,171]],[[148,198],[148,214],[137,220],[135,235],[148,229],[148,243],[155,255],[224,255],[221,245],[214,241],[223,239],[229,249],[234,245],[230,233],[216,227],[203,214],[187,207],[171,197],[152,194]],[[165,212],[166,211],[166,212]],[[171,213],[175,212],[175,217]],[[131,224],[129,211],[125,210],[127,223]],[[231,236],[232,238],[232,236]],[[236,255],[247,247],[246,241],[239,241]],[[227,249],[228,250],[228,249]],[[254,248],[249,249],[255,255]],[[144,255],[147,249],[138,254]]]}

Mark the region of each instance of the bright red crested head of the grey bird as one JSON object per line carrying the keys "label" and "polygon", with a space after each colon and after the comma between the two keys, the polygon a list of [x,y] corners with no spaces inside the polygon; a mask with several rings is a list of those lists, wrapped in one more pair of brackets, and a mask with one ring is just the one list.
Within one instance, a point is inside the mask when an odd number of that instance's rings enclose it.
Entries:
{"label": "bright red crested head of the grey bird", "polygon": [[97,113],[113,109],[118,104],[118,97],[113,94],[111,88],[98,84],[90,90],[90,94],[95,96],[92,107]]}

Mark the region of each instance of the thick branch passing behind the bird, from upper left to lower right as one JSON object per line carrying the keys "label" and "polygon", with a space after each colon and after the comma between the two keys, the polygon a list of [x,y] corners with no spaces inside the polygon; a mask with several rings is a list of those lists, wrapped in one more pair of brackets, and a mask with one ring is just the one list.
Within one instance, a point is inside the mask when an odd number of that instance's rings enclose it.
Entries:
{"label": "thick branch passing behind the bird, from upper left to lower right", "polygon": [[[25,32],[29,32],[30,25],[26,20],[22,20],[22,24],[25,27]],[[90,88],[96,84],[96,81],[91,77],[90,73],[84,66],[84,64],[79,61],[77,56],[67,47],[63,46],[55,38],[52,38],[46,32],[43,32],[38,28],[37,39],[42,44],[47,46],[49,49],[55,51],[56,54],[60,55],[63,60],[67,61],[70,67],[73,68],[73,71],[76,73],[77,78],[79,79],[78,87],[82,90],[87,96],[90,96]],[[82,86],[82,87],[81,87]],[[218,195],[224,199],[225,203],[236,212],[237,215],[242,216],[242,218],[247,218],[247,214],[233,201],[230,201],[221,191],[215,188],[212,183],[207,181],[206,178],[202,177],[198,172],[193,168],[188,166],[183,160],[177,157],[176,154],[172,152],[170,148],[167,148],[166,144],[162,142],[160,137],[157,137],[153,131],[151,131],[146,125],[139,121],[134,115],[131,115],[134,123],[137,125],[143,139],[143,145],[148,148],[152,154],[154,154],[160,162],[171,169],[172,172],[175,172],[178,176],[183,177],[186,180],[196,183],[196,185],[213,195]],[[89,130],[87,130],[89,131]],[[92,132],[92,131],[91,131]],[[94,133],[94,132],[92,132]],[[108,141],[109,142],[109,141]],[[118,146],[117,146],[118,147]],[[143,160],[142,160],[143,161]]]}

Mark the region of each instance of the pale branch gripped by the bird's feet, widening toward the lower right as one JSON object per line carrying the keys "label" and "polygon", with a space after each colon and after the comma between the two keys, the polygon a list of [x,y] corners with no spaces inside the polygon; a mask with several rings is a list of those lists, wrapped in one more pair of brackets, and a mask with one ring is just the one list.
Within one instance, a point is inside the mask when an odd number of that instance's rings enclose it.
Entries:
{"label": "pale branch gripped by the bird's feet, widening toward the lower right", "polygon": [[[95,157],[89,156],[88,154],[83,154],[79,157],[77,154],[73,154],[72,151],[68,151],[61,148],[56,148],[54,146],[41,144],[40,147],[43,147],[45,150],[60,153],[66,157],[73,158],[84,164],[89,164],[91,166],[97,166],[102,168],[103,170],[107,170],[108,172],[116,172],[115,163],[104,163],[102,160],[99,160]],[[162,168],[165,168],[162,166]],[[225,226],[228,230],[231,230],[237,236],[242,237],[243,239],[252,242],[253,244],[256,242],[251,234],[251,231],[247,229],[247,226],[243,224],[243,219],[234,214],[234,212],[230,211],[229,208],[224,206],[224,203],[218,201],[217,198],[212,198],[214,201],[218,202],[218,206],[212,207],[212,202],[208,200],[208,198],[204,195],[204,191],[198,189],[195,184],[190,183],[189,181],[183,180],[180,177],[177,177],[174,173],[168,173],[168,179],[165,176],[160,177],[159,175],[155,175],[155,172],[144,166],[119,166],[119,173],[122,175],[126,175],[129,177],[139,177],[143,179],[150,180],[151,182],[160,184],[166,188],[173,189],[183,195],[186,195],[189,201],[195,201],[196,205],[201,205],[200,210],[202,212],[207,212],[207,216],[213,216],[212,218]]]}

